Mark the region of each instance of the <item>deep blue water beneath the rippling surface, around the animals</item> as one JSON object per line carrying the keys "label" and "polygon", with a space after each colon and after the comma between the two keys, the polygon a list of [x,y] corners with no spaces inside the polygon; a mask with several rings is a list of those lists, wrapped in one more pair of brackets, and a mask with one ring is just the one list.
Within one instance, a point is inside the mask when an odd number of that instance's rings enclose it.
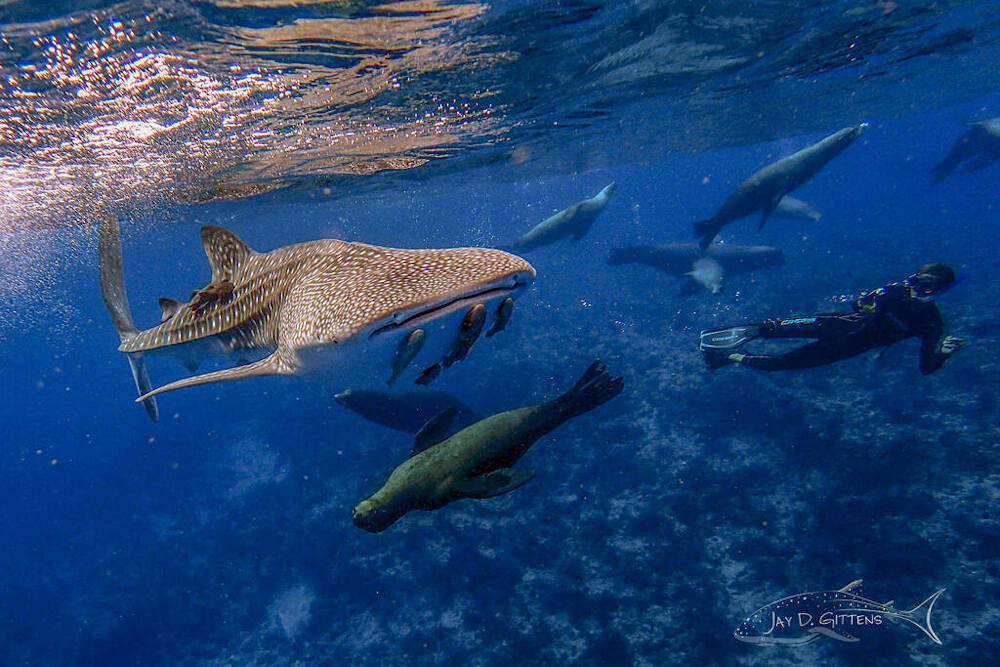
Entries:
{"label": "deep blue water beneath the rippling surface, around the animals", "polygon": [[[260,250],[502,245],[617,182],[586,238],[530,254],[538,278],[510,328],[440,388],[492,414],[560,394],[599,358],[624,393],[541,440],[523,488],[379,535],[350,510],[409,437],[295,378],[169,393],[149,422],[101,300],[93,226],[18,218],[0,313],[0,663],[986,664],[1000,636],[1000,164],[934,187],[928,174],[964,123],[1000,115],[995,88],[964,93],[808,134],[776,121],[761,132],[784,138],[766,143],[650,157],[633,145],[590,169],[416,168],[357,192],[306,182],[130,202],[126,279],[144,327],[157,297],[208,282],[203,224]],[[723,231],[781,248],[784,266],[681,296],[677,278],[606,264],[615,247],[692,240],[692,221],[755,169],[861,120],[866,134],[795,192],[819,222]],[[572,141],[545,145],[573,161]],[[702,364],[701,329],[845,308],[838,296],[931,261],[968,276],[939,301],[966,347],[931,376],[912,340],[795,373]],[[169,358],[149,367],[154,385],[185,374]],[[901,609],[947,588],[933,612],[943,645],[902,622],[856,644],[732,636],[772,600],[854,579]]]}

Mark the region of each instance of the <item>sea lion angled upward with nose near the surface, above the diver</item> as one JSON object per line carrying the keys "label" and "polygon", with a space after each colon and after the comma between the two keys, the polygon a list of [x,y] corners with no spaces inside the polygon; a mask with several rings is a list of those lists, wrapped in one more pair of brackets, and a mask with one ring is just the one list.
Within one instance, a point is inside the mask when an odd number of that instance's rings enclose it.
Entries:
{"label": "sea lion angled upward with nose near the surface, above the diver", "polygon": [[868,123],[845,127],[756,171],[726,198],[713,217],[694,223],[694,233],[700,239],[701,247],[708,248],[719,230],[730,222],[757,211],[760,211],[759,229],[763,228],[782,197],[815,176],[827,162],[861,136],[866,127]]}

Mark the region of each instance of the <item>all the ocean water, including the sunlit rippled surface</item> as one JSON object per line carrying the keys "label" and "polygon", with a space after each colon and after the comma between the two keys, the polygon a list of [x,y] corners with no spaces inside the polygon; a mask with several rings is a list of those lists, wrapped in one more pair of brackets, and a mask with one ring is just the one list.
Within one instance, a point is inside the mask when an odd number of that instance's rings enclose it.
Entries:
{"label": "all the ocean water, including the sunlit rippled surface", "polygon": [[[930,170],[1000,116],[995,2],[0,3],[0,664],[980,665],[1000,644],[1000,164]],[[612,249],[692,241],[754,170],[870,126],[795,191],[818,222],[726,243],[782,266],[718,294]],[[351,508],[412,438],[262,378],[133,403],[100,295],[122,221],[133,315],[204,286],[204,224],[259,250],[339,238],[506,246],[617,189],[590,233],[526,255],[508,330],[435,386],[478,414],[621,396],[543,438],[535,478],[413,512]],[[846,309],[947,262],[966,345],[710,372],[698,333]],[[183,377],[150,358],[154,385]],[[209,362],[202,370],[221,368]],[[933,609],[846,643],[733,631],[863,579]]]}

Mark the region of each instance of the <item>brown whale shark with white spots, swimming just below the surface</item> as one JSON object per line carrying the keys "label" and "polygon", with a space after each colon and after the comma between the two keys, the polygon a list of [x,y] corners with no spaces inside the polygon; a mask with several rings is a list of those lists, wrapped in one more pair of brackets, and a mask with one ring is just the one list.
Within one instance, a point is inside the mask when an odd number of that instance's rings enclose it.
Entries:
{"label": "brown whale shark with white spots, swimming just below the surface", "polygon": [[[152,391],[137,375],[138,400],[263,375],[333,379],[343,386],[384,384],[399,374],[394,364],[399,354],[418,364],[411,364],[415,377],[453,354],[456,344],[467,351],[471,342],[461,325],[470,310],[485,305],[484,324],[501,311],[509,316],[508,300],[535,278],[526,261],[491,248],[406,250],[324,239],[260,253],[221,227],[205,226],[201,237],[212,282],[187,303],[168,302],[170,313],[161,324],[136,332],[125,317],[118,222],[106,217],[101,278],[122,337],[118,349],[129,355],[133,368],[142,355],[157,352],[195,362],[246,351],[268,356]],[[117,273],[105,270],[116,262]],[[413,349],[406,341],[417,329],[426,342]]]}

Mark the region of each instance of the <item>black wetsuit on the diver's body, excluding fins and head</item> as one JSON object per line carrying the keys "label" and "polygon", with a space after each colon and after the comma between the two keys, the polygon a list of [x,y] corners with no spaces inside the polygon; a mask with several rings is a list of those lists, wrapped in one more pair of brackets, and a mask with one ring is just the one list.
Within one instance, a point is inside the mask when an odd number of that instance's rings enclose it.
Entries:
{"label": "black wetsuit on the diver's body, excluding fins and head", "polygon": [[917,336],[920,338],[920,372],[941,368],[949,355],[941,352],[944,322],[932,301],[910,296],[908,287],[892,283],[862,294],[853,313],[829,313],[760,325],[761,338],[815,338],[779,355],[745,355],[740,363],[763,371],[812,368],[853,357],[862,352]]}

